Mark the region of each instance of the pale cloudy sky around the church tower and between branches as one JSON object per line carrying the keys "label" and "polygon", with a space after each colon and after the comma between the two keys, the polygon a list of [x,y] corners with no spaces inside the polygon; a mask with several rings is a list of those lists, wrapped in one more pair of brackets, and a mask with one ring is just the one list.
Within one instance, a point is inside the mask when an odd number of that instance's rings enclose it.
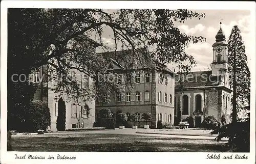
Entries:
{"label": "pale cloudy sky around the church tower and between branches", "polygon": [[[186,20],[183,24],[177,24],[181,32],[194,36],[203,36],[206,42],[199,42],[197,44],[189,44],[185,50],[188,54],[193,56],[197,62],[197,66],[191,71],[209,70],[212,62],[212,44],[215,43],[215,36],[220,29],[220,21],[222,22],[222,31],[226,36],[226,40],[231,33],[232,27],[238,25],[241,30],[241,36],[244,41],[246,54],[248,57],[248,66],[250,68],[251,57],[253,54],[254,45],[251,44],[250,32],[250,11],[249,10],[194,10],[199,13],[205,13],[205,18],[198,20],[197,18]],[[111,11],[109,11],[111,12]],[[103,43],[110,47],[114,46],[114,41],[111,39],[113,34],[111,29],[104,29],[102,35]],[[173,64],[169,64],[170,69],[174,69]]]}

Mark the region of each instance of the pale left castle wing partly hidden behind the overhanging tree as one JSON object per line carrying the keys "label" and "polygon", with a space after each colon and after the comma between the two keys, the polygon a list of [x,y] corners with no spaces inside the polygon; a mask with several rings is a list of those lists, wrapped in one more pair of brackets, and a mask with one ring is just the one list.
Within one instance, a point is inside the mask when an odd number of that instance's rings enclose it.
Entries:
{"label": "pale left castle wing partly hidden behind the overhanging tree", "polygon": [[[95,51],[95,48],[99,46],[99,44],[91,39],[88,41],[93,42],[92,51]],[[66,105],[66,129],[93,127],[95,122],[95,100],[81,101],[78,104],[77,101],[70,99],[65,91],[60,91],[62,94],[58,97],[60,92],[55,92],[57,81],[53,79],[48,80],[47,75],[47,66],[42,66],[39,72],[33,74],[32,81],[38,84],[34,99],[43,101],[50,108],[51,130],[57,130],[58,104],[61,103],[61,101],[64,101]],[[72,75],[81,83],[80,87],[93,92],[94,84],[90,76],[75,69],[70,69],[69,75]],[[42,80],[41,83],[40,79]],[[58,99],[56,99],[56,97]]]}

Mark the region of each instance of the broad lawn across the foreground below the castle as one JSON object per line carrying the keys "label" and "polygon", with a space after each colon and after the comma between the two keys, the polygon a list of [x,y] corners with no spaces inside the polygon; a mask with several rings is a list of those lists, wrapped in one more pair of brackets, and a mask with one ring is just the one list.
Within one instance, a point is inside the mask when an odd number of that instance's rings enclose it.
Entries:
{"label": "broad lawn across the foreground below the castle", "polygon": [[44,134],[13,136],[14,151],[227,152],[223,142],[131,134]]}

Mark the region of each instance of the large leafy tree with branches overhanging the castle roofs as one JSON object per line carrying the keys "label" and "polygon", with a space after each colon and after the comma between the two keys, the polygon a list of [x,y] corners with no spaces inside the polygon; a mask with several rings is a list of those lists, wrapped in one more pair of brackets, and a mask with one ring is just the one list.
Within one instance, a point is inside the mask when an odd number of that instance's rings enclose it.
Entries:
{"label": "large leafy tree with branches overhanging the castle roofs", "polygon": [[[119,93],[116,83],[97,80],[98,73],[108,70],[110,63],[109,58],[95,52],[97,46],[105,52],[110,50],[102,41],[105,28],[113,32],[115,51],[118,47],[131,49],[130,68],[134,68],[140,52],[149,67],[154,68],[156,62],[175,62],[178,69],[189,71],[196,62],[184,50],[190,42],[205,39],[181,33],[175,22],[202,17],[204,14],[188,10],[8,9],[8,104],[22,106],[19,98],[27,94],[20,89],[24,83],[13,87],[12,75],[27,75],[43,66],[47,67],[44,79],[57,81],[53,88],[58,98],[63,94],[60,91],[65,91],[67,101],[74,98],[79,105],[93,100],[95,92],[98,96]],[[97,36],[99,44],[90,39],[92,36]],[[91,76],[94,87],[82,88],[81,80],[70,75],[74,70]],[[13,110],[16,108],[8,105],[8,116],[16,115]]]}

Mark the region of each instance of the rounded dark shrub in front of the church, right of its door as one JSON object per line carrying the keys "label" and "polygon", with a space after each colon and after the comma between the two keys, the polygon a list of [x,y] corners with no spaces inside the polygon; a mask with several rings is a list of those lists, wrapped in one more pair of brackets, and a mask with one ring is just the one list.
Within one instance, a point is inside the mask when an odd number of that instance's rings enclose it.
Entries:
{"label": "rounded dark shrub in front of the church, right of its door", "polygon": [[215,130],[222,126],[221,121],[217,119],[215,116],[206,117],[201,123],[201,127],[208,130]]}

